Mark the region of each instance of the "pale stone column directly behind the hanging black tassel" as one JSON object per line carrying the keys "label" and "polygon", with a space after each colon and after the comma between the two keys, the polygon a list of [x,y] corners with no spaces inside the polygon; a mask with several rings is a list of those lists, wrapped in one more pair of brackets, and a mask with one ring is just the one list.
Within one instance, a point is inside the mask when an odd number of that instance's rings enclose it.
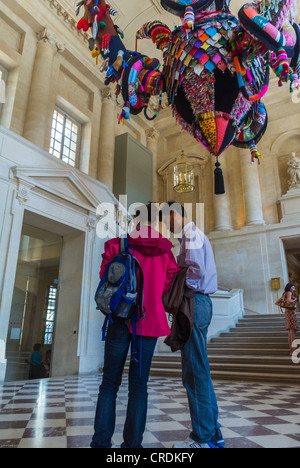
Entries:
{"label": "pale stone column directly behind the hanging black tassel", "polygon": [[[212,156],[211,161],[214,173],[216,158]],[[215,195],[214,193],[215,231],[232,231],[229,183],[226,177],[226,157],[222,158],[221,169],[225,182],[225,193],[222,195]]]}

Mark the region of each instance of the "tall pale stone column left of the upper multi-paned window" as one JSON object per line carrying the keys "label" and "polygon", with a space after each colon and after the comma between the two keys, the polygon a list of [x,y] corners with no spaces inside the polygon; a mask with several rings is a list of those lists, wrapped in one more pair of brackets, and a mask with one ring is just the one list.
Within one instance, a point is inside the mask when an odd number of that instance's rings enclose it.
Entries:
{"label": "tall pale stone column left of the upper multi-paned window", "polygon": [[37,34],[37,39],[23,136],[44,148],[48,128],[53,61],[57,52],[63,52],[64,45],[47,28]]}

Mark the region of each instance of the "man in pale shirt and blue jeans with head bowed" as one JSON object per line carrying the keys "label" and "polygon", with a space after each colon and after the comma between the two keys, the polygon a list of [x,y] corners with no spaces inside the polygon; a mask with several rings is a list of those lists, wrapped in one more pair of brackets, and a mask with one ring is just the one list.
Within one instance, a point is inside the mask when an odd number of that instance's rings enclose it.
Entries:
{"label": "man in pale shirt and blue jeans with head bowed", "polygon": [[162,219],[171,232],[181,233],[177,263],[180,268],[188,267],[186,286],[195,291],[193,332],[181,352],[192,432],[184,443],[174,448],[221,448],[225,444],[207,356],[207,332],[212,319],[209,294],[218,289],[213,250],[208,238],[188,220],[179,203],[167,202],[162,208]]}

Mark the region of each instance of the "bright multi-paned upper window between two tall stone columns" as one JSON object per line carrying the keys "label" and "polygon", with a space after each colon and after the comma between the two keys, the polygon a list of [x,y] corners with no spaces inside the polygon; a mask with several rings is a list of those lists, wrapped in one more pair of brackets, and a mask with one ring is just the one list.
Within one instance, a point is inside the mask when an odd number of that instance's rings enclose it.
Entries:
{"label": "bright multi-paned upper window between two tall stone columns", "polygon": [[70,166],[77,166],[80,125],[55,109],[52,121],[50,153]]}

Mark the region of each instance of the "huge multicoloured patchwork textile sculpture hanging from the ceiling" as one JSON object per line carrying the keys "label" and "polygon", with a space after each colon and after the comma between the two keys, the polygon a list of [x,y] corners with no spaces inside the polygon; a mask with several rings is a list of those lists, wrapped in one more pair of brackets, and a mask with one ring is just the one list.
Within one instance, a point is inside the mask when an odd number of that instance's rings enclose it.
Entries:
{"label": "huge multicoloured patchwork textile sculpture hanging from the ceiling", "polygon": [[[230,146],[249,148],[251,163],[260,162],[257,143],[268,116],[262,98],[271,68],[279,86],[300,89],[300,27],[295,22],[298,0],[246,3],[238,17],[230,0],[161,0],[162,7],[182,20],[173,31],[151,21],[136,34],[136,50],[128,50],[123,32],[114,25],[117,11],[105,0],[82,0],[77,28],[91,31],[92,57],[101,55],[105,84],[116,83],[124,107],[119,123],[144,111],[157,117],[163,94],[179,125],[216,157],[215,193],[224,193],[219,156]],[[137,52],[139,39],[152,39],[163,52],[163,64]],[[151,96],[159,109],[149,115]]]}

